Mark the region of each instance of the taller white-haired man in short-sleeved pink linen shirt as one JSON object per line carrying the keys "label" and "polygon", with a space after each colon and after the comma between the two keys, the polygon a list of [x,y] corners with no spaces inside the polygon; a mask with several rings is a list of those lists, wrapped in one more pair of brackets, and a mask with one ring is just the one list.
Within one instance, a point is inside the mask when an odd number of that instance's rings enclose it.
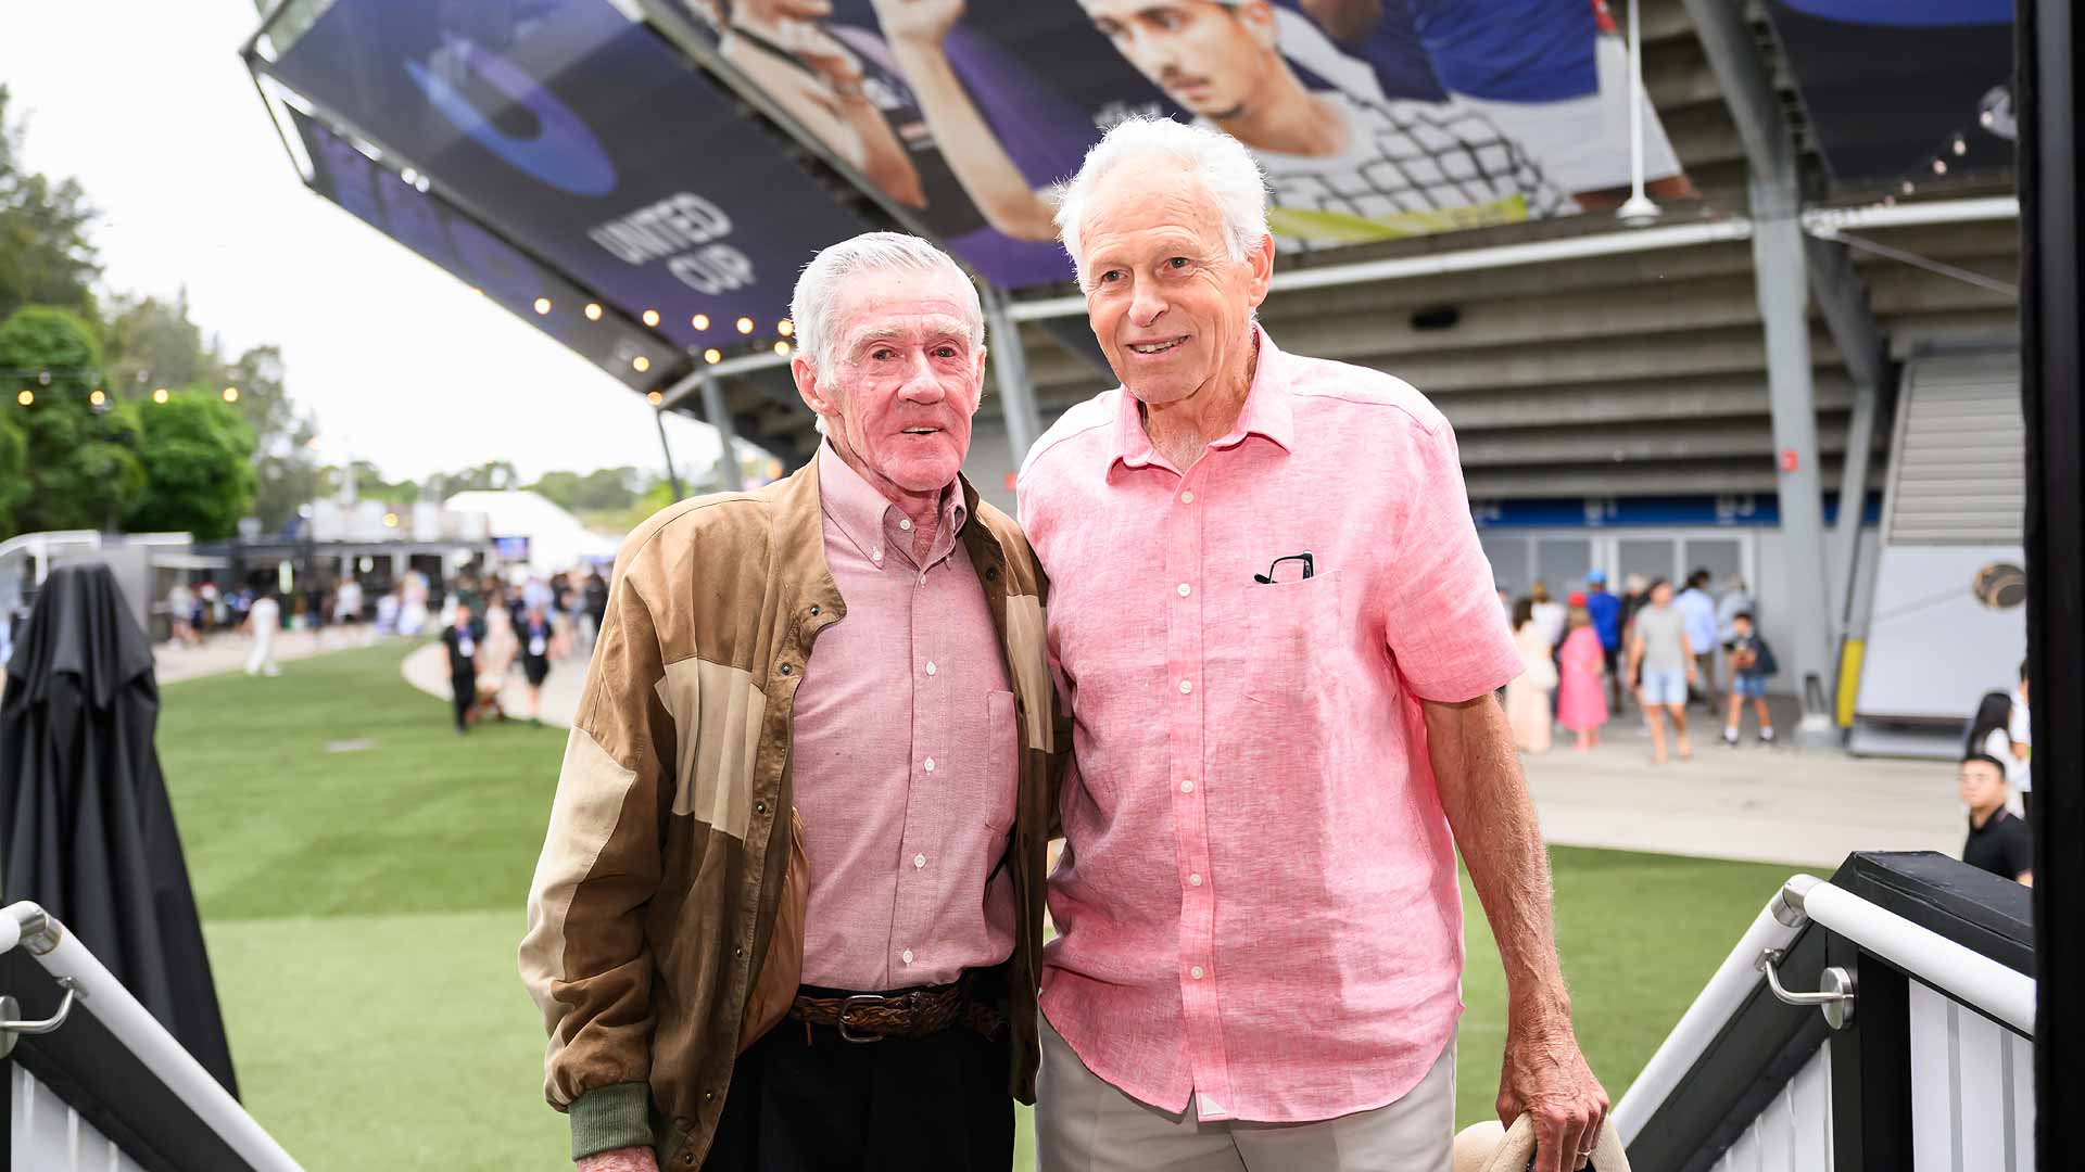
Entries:
{"label": "taller white-haired man in short-sleeved pink linen shirt", "polygon": [[1441,413],[1255,323],[1274,246],[1232,140],[1118,125],[1057,225],[1120,390],[1030,450],[1074,717],[1038,1155],[1088,1170],[1445,1170],[1455,847],[1510,988],[1501,1120],[1585,1166],[1549,868],[1493,690],[1520,672]]}

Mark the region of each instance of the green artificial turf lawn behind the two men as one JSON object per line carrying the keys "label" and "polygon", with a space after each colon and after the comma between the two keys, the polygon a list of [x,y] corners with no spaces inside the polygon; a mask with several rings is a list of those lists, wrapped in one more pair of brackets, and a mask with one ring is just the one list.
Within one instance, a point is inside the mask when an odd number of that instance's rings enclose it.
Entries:
{"label": "green artificial turf lawn behind the two men", "polygon": [[[450,730],[407,644],[163,690],[158,751],[248,1109],[313,1172],[569,1168],[515,974],[565,734]],[[561,665],[565,672],[580,667]],[[327,753],[327,742],[369,749]],[[1551,851],[1578,1039],[1620,1099],[1785,865]],[[1457,1126],[1491,1116],[1505,982],[1464,880]],[[1387,913],[1387,922],[1393,918]],[[1015,1166],[1028,1168],[1022,1118]]]}

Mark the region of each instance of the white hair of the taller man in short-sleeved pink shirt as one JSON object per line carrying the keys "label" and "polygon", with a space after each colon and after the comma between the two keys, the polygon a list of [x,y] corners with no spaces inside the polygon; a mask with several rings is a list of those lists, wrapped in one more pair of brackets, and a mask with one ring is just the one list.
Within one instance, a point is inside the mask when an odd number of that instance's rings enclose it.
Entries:
{"label": "white hair of the taller man in short-sleeved pink shirt", "polygon": [[1057,240],[1072,254],[1080,284],[1086,284],[1086,267],[1078,238],[1090,215],[1086,200],[1093,188],[1115,167],[1147,165],[1153,158],[1178,163],[1201,181],[1224,221],[1224,244],[1232,261],[1243,261],[1268,238],[1268,179],[1245,144],[1207,127],[1138,115],[1101,136],[1078,175],[1057,188]]}

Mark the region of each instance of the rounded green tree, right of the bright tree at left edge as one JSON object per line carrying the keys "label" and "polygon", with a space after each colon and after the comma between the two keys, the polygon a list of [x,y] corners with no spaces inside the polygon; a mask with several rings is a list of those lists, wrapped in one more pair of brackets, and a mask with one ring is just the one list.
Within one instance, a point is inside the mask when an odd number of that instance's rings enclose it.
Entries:
{"label": "rounded green tree, right of the bright tree at left edge", "polygon": [[254,430],[223,390],[198,384],[142,409],[146,484],[131,532],[229,538],[254,503]]}

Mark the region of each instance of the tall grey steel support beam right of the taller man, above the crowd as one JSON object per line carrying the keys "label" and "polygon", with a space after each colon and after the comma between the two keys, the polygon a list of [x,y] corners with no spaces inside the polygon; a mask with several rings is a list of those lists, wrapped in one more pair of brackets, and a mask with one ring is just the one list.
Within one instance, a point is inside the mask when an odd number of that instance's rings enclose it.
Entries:
{"label": "tall grey steel support beam right of the taller man, above the crowd", "polygon": [[[1745,10],[1731,0],[1685,0],[1708,52],[1737,136],[1745,144],[1751,194],[1751,267],[1766,329],[1766,386],[1774,419],[1781,536],[1787,542],[1795,690],[1804,703],[1797,738],[1837,740],[1831,726],[1835,655],[1831,559],[1818,478],[1816,398],[1810,386],[1810,261],[1804,244],[1795,136],[1774,100]],[[1822,300],[1822,298],[1820,298]],[[1856,505],[1858,509],[1858,505]]]}

